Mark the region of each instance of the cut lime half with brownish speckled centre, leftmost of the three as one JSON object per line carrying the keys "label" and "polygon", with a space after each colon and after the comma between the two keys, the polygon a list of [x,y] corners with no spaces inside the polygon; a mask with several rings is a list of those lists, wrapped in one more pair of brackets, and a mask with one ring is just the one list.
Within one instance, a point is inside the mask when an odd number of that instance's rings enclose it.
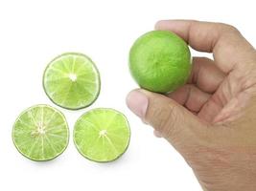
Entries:
{"label": "cut lime half with brownish speckled centre, leftmost of the three", "polygon": [[12,139],[17,150],[28,159],[55,159],[67,147],[68,125],[57,109],[35,105],[17,117]]}

